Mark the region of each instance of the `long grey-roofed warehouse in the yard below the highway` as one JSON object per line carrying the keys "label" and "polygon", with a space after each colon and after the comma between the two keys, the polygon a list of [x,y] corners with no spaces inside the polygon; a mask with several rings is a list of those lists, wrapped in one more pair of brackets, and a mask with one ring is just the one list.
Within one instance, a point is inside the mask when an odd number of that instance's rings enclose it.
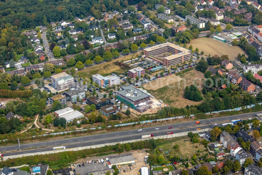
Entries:
{"label": "long grey-roofed warehouse in the yard below the highway", "polygon": [[111,165],[135,164],[135,159],[132,153],[108,156],[108,160]]}

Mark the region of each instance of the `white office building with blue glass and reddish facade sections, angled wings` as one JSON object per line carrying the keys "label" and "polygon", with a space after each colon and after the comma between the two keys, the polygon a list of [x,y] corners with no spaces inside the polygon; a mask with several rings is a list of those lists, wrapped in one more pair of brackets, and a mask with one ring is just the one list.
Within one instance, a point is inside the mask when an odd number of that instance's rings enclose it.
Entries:
{"label": "white office building with blue glass and reddish facade sections, angled wings", "polygon": [[112,87],[113,85],[120,84],[119,76],[102,76],[99,74],[92,75],[93,82],[99,85],[102,88],[106,88],[107,86]]}

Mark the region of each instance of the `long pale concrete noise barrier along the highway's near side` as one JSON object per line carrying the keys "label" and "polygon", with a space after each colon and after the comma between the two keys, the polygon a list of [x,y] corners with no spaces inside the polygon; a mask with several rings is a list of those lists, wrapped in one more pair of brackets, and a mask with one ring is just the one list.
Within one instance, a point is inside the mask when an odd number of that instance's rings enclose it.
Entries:
{"label": "long pale concrete noise barrier along the highway's near side", "polygon": [[165,139],[165,138],[173,138],[173,137],[181,137],[181,136],[187,136],[188,132],[193,132],[193,133],[199,133],[199,132],[204,132],[211,130],[211,128],[205,128],[201,130],[194,130],[194,131],[185,131],[185,132],[180,132],[180,133],[173,133],[169,135],[162,135],[162,136],[154,136],[154,137],[148,137],[148,138],[139,138],[139,139],[133,139],[133,140],[127,140],[127,141],[119,141],[119,142],[112,142],[112,143],[103,143],[99,145],[90,145],[90,146],[81,146],[81,147],[76,147],[76,148],[67,148],[64,150],[50,150],[50,151],[41,151],[41,152],[34,152],[34,153],[23,153],[19,155],[12,155],[12,156],[4,156],[3,160],[7,159],[12,159],[12,158],[18,158],[18,157],[26,157],[26,156],[35,156],[35,155],[45,155],[45,154],[53,154],[53,153],[59,153],[59,152],[65,152],[65,151],[79,151],[79,150],[84,150],[84,149],[90,149],[90,148],[100,148],[104,146],[112,146],[116,145],[117,143],[132,143],[132,142],[139,142],[139,141],[144,141],[144,140],[149,140],[151,138],[156,139]]}

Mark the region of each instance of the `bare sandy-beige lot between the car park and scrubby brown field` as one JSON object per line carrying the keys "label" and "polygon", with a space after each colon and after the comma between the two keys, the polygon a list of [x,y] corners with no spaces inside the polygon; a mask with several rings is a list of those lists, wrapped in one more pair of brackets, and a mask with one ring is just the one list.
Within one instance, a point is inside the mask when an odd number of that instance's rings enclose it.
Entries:
{"label": "bare sandy-beige lot between the car park and scrubby brown field", "polygon": [[165,86],[168,86],[170,84],[176,83],[181,80],[183,80],[183,78],[175,74],[172,74],[156,79],[155,81],[150,81],[149,83],[144,85],[144,88],[148,90],[157,90],[159,88],[163,88]]}

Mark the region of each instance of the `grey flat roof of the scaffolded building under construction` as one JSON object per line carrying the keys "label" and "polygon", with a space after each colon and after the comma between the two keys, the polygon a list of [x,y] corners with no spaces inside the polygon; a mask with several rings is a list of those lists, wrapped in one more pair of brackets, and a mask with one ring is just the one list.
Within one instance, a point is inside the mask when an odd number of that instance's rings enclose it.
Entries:
{"label": "grey flat roof of the scaffolded building under construction", "polygon": [[122,96],[125,96],[133,101],[137,101],[140,99],[144,99],[146,97],[149,97],[145,92],[142,92],[138,89],[133,88],[132,86],[126,86],[122,87],[122,91],[117,92],[118,94],[121,94]]}

